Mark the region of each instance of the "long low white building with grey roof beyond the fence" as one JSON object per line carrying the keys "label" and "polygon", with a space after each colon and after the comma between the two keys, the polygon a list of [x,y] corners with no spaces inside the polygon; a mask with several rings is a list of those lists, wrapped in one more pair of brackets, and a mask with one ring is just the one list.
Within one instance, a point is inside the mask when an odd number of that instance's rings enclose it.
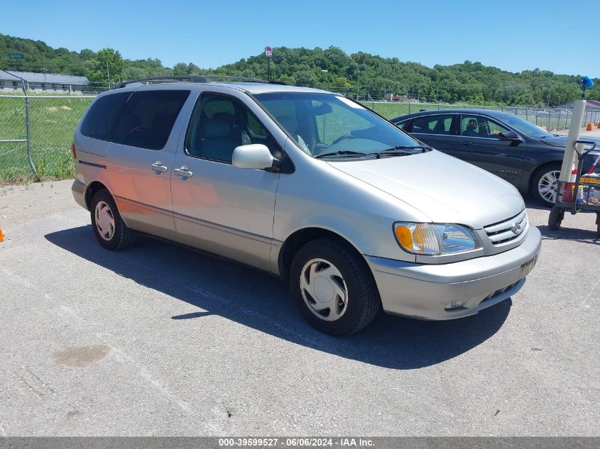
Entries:
{"label": "long low white building with grey roof beyond the fence", "polygon": [[0,70],[0,92],[25,89],[35,92],[89,92],[86,77],[54,73],[15,72]]}

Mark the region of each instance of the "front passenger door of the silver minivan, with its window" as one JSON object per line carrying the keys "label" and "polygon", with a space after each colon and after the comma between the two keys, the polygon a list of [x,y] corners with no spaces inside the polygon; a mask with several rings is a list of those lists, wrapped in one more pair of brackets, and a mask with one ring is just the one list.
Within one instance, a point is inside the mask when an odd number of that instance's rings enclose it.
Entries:
{"label": "front passenger door of the silver minivan, with its window", "polygon": [[242,101],[199,97],[173,162],[175,226],[188,245],[269,270],[279,174],[231,165],[234,149],[250,143],[278,151]]}

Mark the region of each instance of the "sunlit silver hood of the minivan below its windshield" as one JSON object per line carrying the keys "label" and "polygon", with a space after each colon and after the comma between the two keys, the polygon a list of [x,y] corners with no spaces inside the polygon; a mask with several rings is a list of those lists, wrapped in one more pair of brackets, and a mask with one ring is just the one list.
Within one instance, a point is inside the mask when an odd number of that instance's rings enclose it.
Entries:
{"label": "sunlit silver hood of the minivan below its windshield", "polygon": [[516,216],[525,208],[518,190],[508,182],[437,150],[327,162],[413,206],[434,223],[479,229]]}

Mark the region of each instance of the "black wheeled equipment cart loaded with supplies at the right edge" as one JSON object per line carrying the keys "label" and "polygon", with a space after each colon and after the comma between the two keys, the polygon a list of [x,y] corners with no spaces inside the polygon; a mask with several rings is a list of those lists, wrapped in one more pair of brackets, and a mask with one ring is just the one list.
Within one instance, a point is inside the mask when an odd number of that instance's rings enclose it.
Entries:
{"label": "black wheeled equipment cart loaded with supplies at the right edge", "polygon": [[[584,145],[581,152],[577,149],[577,144]],[[552,206],[552,211],[548,216],[548,228],[552,231],[560,229],[565,211],[569,211],[572,215],[581,211],[591,211],[596,212],[596,224],[598,235],[600,235],[600,174],[582,174],[584,157],[596,148],[596,143],[577,140],[573,146],[577,152],[576,177],[574,182],[557,181],[556,204]],[[596,158],[591,171],[596,167],[599,160],[600,156]]]}

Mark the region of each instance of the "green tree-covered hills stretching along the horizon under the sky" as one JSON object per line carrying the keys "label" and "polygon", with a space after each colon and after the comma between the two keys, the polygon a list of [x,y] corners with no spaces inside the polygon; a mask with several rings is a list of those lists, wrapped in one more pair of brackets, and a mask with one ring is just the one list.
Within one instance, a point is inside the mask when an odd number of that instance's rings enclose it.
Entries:
{"label": "green tree-covered hills stretching along the horizon under the sky", "polygon": [[[9,53],[15,52],[23,53],[24,59],[9,60]],[[125,79],[178,74],[265,79],[267,62],[261,53],[216,69],[203,69],[192,62],[164,67],[156,58],[124,59],[112,48],[75,52],[52,48],[40,40],[0,34],[0,68],[86,76],[92,84],[105,88]],[[336,47],[274,48],[271,59],[271,79],[322,87],[361,99],[383,99],[393,94],[441,103],[553,107],[579,98],[581,78],[580,74],[555,74],[539,68],[513,73],[468,60],[427,67],[366,52],[348,55]],[[594,82],[598,84],[600,79]],[[587,98],[600,100],[600,87],[591,89]]]}

